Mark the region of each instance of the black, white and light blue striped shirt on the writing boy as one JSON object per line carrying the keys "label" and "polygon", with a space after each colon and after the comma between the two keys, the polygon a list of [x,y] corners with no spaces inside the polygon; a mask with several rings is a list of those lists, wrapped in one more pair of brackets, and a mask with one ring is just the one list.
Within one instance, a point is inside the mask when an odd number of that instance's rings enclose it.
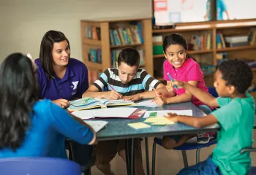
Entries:
{"label": "black, white and light blue striped shirt on the writing boy", "polygon": [[96,86],[99,91],[112,90],[108,83],[122,96],[132,96],[152,90],[151,86],[157,88],[161,82],[151,77],[144,69],[139,68],[132,81],[123,84],[118,76],[118,69],[109,68],[92,85]]}

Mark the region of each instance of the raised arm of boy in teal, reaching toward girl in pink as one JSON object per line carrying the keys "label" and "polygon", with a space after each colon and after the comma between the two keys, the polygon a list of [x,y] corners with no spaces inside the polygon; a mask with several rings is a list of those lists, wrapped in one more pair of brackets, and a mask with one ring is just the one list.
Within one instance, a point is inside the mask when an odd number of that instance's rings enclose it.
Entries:
{"label": "raised arm of boy in teal, reaching toward girl in pink", "polygon": [[205,91],[201,90],[200,88],[196,88],[193,85],[190,85],[187,82],[181,82],[178,80],[175,80],[172,85],[177,85],[178,88],[184,88],[186,91],[188,91],[192,96],[195,96],[198,100],[202,101],[203,104],[206,104],[211,107],[217,107],[219,106],[217,102],[217,98],[211,96],[211,94],[206,93]]}

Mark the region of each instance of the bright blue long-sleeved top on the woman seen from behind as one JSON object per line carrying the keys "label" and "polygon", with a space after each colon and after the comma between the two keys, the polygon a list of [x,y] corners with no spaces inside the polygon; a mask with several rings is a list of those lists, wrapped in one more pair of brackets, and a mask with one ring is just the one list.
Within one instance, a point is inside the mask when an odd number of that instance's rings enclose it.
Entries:
{"label": "bright blue long-sleeved top on the woman seen from behind", "polygon": [[15,152],[12,149],[0,149],[0,158],[67,158],[64,144],[66,137],[80,144],[88,144],[94,134],[56,104],[49,100],[38,101],[34,105],[31,126],[23,144]]}

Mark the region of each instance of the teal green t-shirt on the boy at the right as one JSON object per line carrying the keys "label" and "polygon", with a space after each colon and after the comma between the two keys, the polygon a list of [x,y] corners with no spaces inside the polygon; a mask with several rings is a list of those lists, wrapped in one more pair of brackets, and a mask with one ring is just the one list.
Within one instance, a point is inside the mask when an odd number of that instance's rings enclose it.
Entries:
{"label": "teal green t-shirt on the boy at the right", "polygon": [[247,174],[251,167],[249,152],[240,150],[252,147],[252,128],[255,124],[255,101],[249,93],[246,98],[217,98],[220,109],[212,112],[221,129],[212,160],[222,174]]}

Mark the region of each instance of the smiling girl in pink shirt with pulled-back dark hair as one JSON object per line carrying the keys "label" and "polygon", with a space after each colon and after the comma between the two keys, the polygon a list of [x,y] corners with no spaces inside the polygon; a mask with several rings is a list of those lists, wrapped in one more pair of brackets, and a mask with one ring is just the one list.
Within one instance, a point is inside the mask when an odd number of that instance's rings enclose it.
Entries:
{"label": "smiling girl in pink shirt with pulled-back dark hair", "polygon": [[[154,102],[159,105],[163,104],[176,104],[181,102],[191,101],[197,107],[202,109],[206,114],[211,113],[211,108],[206,104],[203,104],[195,96],[192,96],[189,92],[184,89],[176,89],[171,87],[170,79],[167,74],[170,74],[172,79],[188,82],[197,88],[208,93],[208,88],[205,85],[203,79],[203,71],[201,71],[199,64],[187,53],[187,42],[184,36],[180,34],[170,34],[165,36],[162,44],[166,61],[164,63],[164,79],[167,81],[166,88],[169,94],[166,98],[158,96],[154,98]],[[173,149],[181,144],[184,144],[188,139],[192,138],[189,136],[164,136],[162,139],[162,146],[166,149]],[[198,133],[197,143],[208,143],[208,133]]]}

